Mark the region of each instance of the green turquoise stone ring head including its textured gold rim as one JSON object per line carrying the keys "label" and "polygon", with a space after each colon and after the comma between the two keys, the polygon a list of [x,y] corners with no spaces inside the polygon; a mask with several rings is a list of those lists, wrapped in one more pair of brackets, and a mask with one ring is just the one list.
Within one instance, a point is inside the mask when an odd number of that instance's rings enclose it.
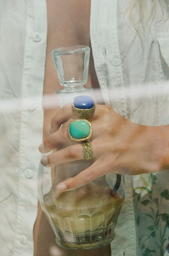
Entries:
{"label": "green turquoise stone ring head including its textured gold rim", "polygon": [[68,135],[73,141],[87,141],[92,136],[92,125],[85,119],[74,120],[68,125]]}

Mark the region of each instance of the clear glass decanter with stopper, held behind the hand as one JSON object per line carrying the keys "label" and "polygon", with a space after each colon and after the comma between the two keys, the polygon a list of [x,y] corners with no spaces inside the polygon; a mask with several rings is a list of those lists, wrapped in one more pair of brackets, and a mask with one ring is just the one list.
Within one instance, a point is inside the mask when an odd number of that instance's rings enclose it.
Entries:
{"label": "clear glass decanter with stopper, held behind the hand", "polygon": [[[92,94],[93,89],[84,85],[87,83],[89,55],[87,46],[68,46],[52,51],[63,86],[56,91],[61,107],[72,102],[75,96]],[[125,195],[123,175],[107,174],[75,190],[57,190],[57,184],[74,177],[93,162],[94,159],[78,160],[54,168],[39,165],[39,201],[54,230],[57,244],[65,248],[98,248],[115,237],[114,229]]]}

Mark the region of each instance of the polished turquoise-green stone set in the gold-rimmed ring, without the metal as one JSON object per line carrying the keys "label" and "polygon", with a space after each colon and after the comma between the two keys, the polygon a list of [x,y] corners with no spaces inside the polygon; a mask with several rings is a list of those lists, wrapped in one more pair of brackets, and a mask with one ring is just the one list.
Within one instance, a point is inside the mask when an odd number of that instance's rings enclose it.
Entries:
{"label": "polished turquoise-green stone set in the gold-rimmed ring, without the metal", "polygon": [[79,121],[74,121],[72,124],[70,124],[70,135],[74,139],[83,139],[88,137],[90,134],[90,126],[88,122],[79,120]]}

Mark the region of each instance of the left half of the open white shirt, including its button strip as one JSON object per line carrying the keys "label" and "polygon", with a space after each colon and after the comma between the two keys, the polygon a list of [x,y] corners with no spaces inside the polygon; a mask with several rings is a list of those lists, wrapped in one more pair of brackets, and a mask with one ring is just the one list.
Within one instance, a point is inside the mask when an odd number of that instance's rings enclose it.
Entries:
{"label": "left half of the open white shirt, including its button strip", "polygon": [[30,256],[43,135],[46,1],[1,1],[0,34],[0,255]]}

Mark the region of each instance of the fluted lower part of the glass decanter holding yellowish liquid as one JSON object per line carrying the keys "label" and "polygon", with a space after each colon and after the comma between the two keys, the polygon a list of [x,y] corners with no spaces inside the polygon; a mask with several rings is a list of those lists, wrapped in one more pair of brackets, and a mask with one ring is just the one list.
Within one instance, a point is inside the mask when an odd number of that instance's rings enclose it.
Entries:
{"label": "fluted lower part of the glass decanter holding yellowish liquid", "polygon": [[112,242],[122,203],[121,198],[86,209],[62,209],[43,203],[41,206],[55,232],[57,244],[68,249],[90,249]]}

